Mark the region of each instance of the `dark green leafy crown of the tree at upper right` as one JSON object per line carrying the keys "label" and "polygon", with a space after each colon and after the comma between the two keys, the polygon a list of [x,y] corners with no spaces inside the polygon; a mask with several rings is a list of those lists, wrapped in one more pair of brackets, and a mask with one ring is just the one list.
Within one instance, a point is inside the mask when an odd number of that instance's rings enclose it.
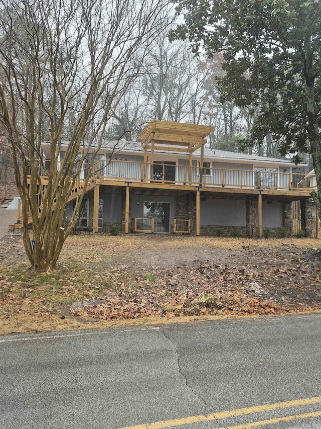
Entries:
{"label": "dark green leafy crown of the tree at upper right", "polygon": [[222,101],[260,106],[252,143],[269,133],[284,153],[309,150],[315,138],[320,145],[319,0],[183,0],[180,11],[194,50],[202,45],[209,56],[223,54]]}

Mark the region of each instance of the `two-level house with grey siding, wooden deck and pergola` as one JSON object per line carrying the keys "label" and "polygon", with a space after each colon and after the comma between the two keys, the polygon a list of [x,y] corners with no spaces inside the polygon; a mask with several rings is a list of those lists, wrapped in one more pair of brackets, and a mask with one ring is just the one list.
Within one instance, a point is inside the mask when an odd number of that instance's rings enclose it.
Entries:
{"label": "two-level house with grey siding, wooden deck and pergola", "polygon": [[[308,213],[312,176],[295,173],[290,160],[211,150],[205,143],[212,129],[151,121],[139,142],[120,142],[116,151],[115,142],[105,142],[78,226],[99,232],[119,222],[125,233],[196,235],[237,229],[251,237],[267,227],[292,234],[292,202]],[[44,143],[44,156],[48,149]]]}

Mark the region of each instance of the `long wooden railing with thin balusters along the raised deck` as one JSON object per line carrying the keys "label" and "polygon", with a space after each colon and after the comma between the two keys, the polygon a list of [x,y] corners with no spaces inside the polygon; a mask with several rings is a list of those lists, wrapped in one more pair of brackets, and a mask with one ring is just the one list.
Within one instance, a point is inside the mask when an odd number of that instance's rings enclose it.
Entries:
{"label": "long wooden railing with thin balusters along the raised deck", "polygon": [[[44,161],[44,164],[48,165],[48,161]],[[41,171],[43,176],[46,176],[46,171],[46,168]],[[88,174],[89,170],[84,164],[80,173],[80,181],[84,180]],[[151,164],[123,160],[98,160],[91,176],[106,181],[287,191],[309,191],[316,186],[315,175],[229,168],[200,168],[196,165],[190,167],[189,165]]]}

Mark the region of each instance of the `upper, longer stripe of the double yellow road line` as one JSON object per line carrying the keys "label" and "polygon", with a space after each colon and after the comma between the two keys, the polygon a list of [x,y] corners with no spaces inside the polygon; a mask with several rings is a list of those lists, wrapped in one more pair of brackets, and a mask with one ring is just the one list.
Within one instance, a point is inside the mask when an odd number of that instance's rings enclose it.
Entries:
{"label": "upper, longer stripe of the double yellow road line", "polygon": [[314,396],[313,398],[297,399],[294,401],[276,402],[275,404],[257,405],[249,408],[238,408],[238,409],[229,410],[229,411],[221,411],[215,414],[192,415],[190,417],[175,418],[172,420],[155,421],[153,423],[145,423],[145,424],[138,424],[134,426],[121,427],[120,429],[165,429],[167,427],[198,423],[200,421],[217,420],[221,418],[234,417],[237,415],[253,414],[256,412],[271,411],[277,408],[288,408],[288,407],[295,407],[295,406],[301,406],[301,405],[316,404],[319,402],[321,402],[321,396]]}

